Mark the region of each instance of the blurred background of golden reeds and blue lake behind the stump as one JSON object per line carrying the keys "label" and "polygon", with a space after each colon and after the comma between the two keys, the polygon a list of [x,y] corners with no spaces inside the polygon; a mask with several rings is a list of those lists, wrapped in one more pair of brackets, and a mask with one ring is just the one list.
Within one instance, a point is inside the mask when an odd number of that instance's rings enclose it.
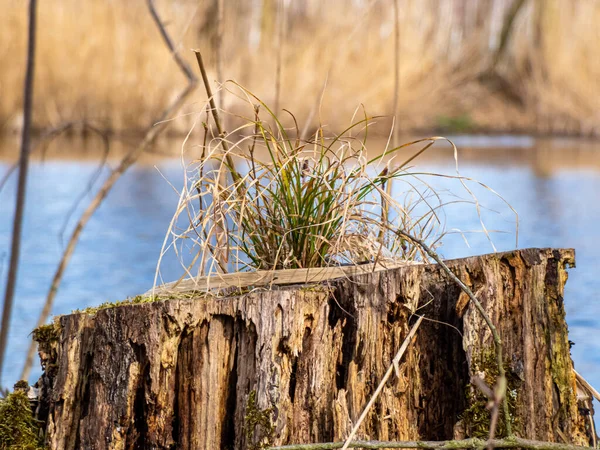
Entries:
{"label": "blurred background of golden reeds and blue lake behind the stump", "polygon": [[[576,369],[600,388],[600,2],[596,0],[156,0],[175,49],[197,74],[233,79],[301,128],[332,132],[357,107],[382,115],[369,152],[395,117],[404,142],[444,135],[461,174],[486,198],[498,250],[574,247],[565,305]],[[0,0],[0,288],[8,268],[22,126],[27,2]],[[32,154],[23,249],[2,386],[19,378],[52,276],[94,192],[186,86],[143,0],[40,2]],[[215,83],[218,88],[218,83]],[[115,185],[84,229],[53,314],[148,290],[182,184],[180,151],[206,101],[197,89]],[[241,111],[232,94],[223,109]],[[228,118],[229,127],[235,117]],[[77,122],[51,141],[51,130]],[[86,124],[85,126],[82,124]],[[90,132],[87,125],[94,127]],[[108,147],[100,134],[109,140]],[[193,154],[199,142],[192,134]],[[108,149],[108,153],[106,153]],[[419,168],[455,173],[448,146]],[[171,183],[171,186],[165,178]],[[432,182],[445,189],[442,179]],[[487,203],[486,203],[487,201]],[[496,207],[504,208],[494,213]],[[510,211],[509,211],[510,212]],[[473,209],[446,213],[447,258],[493,251]],[[180,275],[163,262],[168,281]],[[171,267],[171,268],[169,268]],[[31,381],[39,376],[35,368]]]}

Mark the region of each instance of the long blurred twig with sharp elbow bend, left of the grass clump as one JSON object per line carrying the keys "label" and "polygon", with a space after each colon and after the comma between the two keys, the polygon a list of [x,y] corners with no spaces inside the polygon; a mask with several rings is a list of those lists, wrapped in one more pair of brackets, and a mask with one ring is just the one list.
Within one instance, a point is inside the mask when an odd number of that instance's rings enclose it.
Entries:
{"label": "long blurred twig with sharp elbow bend, left of the grass clump", "polygon": [[[129,169],[133,164],[135,164],[135,162],[138,160],[138,158],[144,152],[144,150],[154,141],[156,136],[158,136],[161,133],[161,131],[166,127],[166,124],[167,124],[167,122],[165,122],[165,120],[168,119],[169,117],[171,117],[173,114],[175,114],[184,105],[187,97],[193,92],[193,90],[195,89],[196,84],[197,84],[197,79],[194,76],[192,69],[181,58],[181,56],[175,49],[175,46],[173,45],[173,42],[171,41],[171,38],[169,37],[167,31],[165,30],[164,25],[163,25],[162,21],[160,20],[160,17],[158,16],[156,9],[154,7],[154,1],[153,0],[146,0],[146,1],[147,1],[147,6],[150,11],[150,14],[152,15],[152,18],[154,19],[155,25],[157,26],[165,45],[171,51],[171,54],[173,55],[173,59],[175,60],[175,63],[180,67],[180,69],[185,74],[185,76],[188,80],[188,84],[183,89],[181,94],[179,94],[179,96],[173,101],[173,103],[171,103],[162,112],[162,114],[156,121],[157,124],[150,126],[150,128],[146,132],[146,135],[144,136],[142,142],[136,148],[131,150],[129,153],[127,153],[123,157],[123,159],[121,160],[119,165],[112,171],[110,176],[106,179],[104,184],[100,187],[100,190],[96,193],[96,196],[92,199],[92,201],[89,203],[89,205],[87,206],[87,208],[85,209],[85,211],[83,212],[81,217],[79,218],[79,221],[77,222],[77,225],[75,226],[75,229],[73,230],[73,232],[71,234],[69,242],[67,243],[67,246],[65,247],[65,250],[63,252],[63,255],[62,255],[62,258],[58,265],[58,268],[56,269],[56,272],[54,273],[54,278],[52,279],[52,284],[50,286],[48,296],[46,297],[46,303],[44,304],[44,308],[42,309],[42,312],[38,319],[38,323],[37,323],[38,327],[42,326],[44,323],[46,323],[46,320],[48,320],[48,316],[50,315],[50,311],[52,310],[54,298],[56,297],[56,292],[58,291],[58,287],[62,280],[63,273],[71,259],[71,256],[73,255],[73,251],[75,250],[77,242],[79,241],[79,236],[81,235],[81,232],[85,228],[86,224],[88,223],[88,221],[90,220],[90,218],[92,217],[94,212],[96,212],[98,207],[102,204],[102,202],[104,201],[104,199],[106,198],[106,196],[108,195],[108,193],[110,192],[110,190],[112,189],[114,184],[117,182],[117,180],[121,177],[121,175],[123,175],[123,173],[125,173],[125,171],[127,171],[127,169]],[[27,352],[27,359],[25,361],[25,365],[23,367],[23,372],[21,374],[22,379],[29,378],[29,372],[31,371],[31,366],[33,364],[33,357],[35,355],[35,350],[36,350],[36,343],[32,341],[29,346],[29,350]]]}

